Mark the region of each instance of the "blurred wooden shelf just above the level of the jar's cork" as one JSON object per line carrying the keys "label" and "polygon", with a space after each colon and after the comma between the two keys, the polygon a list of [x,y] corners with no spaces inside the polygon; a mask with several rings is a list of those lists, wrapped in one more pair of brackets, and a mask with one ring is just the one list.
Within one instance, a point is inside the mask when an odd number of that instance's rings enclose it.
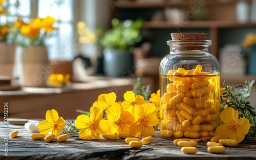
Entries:
{"label": "blurred wooden shelf just above the level of the jar's cork", "polygon": [[[147,21],[143,22],[144,29],[168,29],[176,28],[182,23],[168,21]],[[189,21],[180,28],[239,28],[239,27],[256,27],[256,23],[238,23],[236,21]]]}

